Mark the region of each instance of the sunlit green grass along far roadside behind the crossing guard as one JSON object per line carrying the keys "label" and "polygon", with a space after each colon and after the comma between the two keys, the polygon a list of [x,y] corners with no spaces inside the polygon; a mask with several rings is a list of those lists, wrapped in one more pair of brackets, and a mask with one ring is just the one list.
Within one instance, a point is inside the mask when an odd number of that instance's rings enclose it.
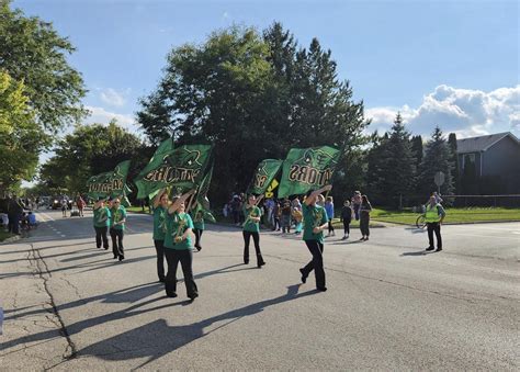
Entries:
{"label": "sunlit green grass along far roadside behind the crossing guard", "polygon": [[[445,208],[445,224],[475,223],[494,221],[520,221],[520,208],[504,207],[470,207],[470,208]],[[372,219],[380,222],[415,225],[418,213],[410,211],[388,211],[374,208]]]}

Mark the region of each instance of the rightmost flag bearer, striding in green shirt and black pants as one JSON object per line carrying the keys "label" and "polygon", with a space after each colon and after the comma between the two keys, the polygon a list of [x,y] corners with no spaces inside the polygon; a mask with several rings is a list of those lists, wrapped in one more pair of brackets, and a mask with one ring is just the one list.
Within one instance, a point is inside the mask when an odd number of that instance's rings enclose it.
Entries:
{"label": "rightmost flag bearer, striding in green shirt and black pants", "polygon": [[302,282],[307,281],[310,271],[316,275],[316,289],[327,291],[325,286],[324,270],[324,229],[328,227],[328,217],[325,208],[316,203],[323,192],[332,190],[332,185],[323,187],[316,191],[308,191],[302,206],[304,216],[303,239],[313,255],[313,259],[304,268],[299,269]]}

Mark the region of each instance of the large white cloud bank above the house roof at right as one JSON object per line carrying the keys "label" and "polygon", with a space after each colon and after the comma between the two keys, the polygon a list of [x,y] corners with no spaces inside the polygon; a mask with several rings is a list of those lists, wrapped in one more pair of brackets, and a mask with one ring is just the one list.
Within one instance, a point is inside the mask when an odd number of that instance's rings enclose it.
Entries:
{"label": "large white cloud bank above the house roof at right", "polygon": [[444,133],[454,132],[461,138],[508,131],[520,136],[520,86],[485,92],[442,84],[425,95],[417,109],[368,109],[370,131],[387,131],[397,111],[414,134],[428,136],[439,125]]}

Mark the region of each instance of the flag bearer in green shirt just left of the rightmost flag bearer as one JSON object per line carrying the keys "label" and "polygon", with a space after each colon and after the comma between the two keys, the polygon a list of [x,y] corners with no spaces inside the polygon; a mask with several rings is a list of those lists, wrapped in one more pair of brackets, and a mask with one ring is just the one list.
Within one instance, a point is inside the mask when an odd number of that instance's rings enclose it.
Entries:
{"label": "flag bearer in green shirt just left of the rightmost flag bearer", "polygon": [[262,258],[262,252],[260,251],[260,217],[262,213],[257,206],[258,203],[262,200],[263,195],[257,199],[255,194],[250,194],[246,205],[244,206],[244,215],[246,221],[242,226],[244,235],[244,263],[249,263],[249,243],[252,240],[255,243],[255,250],[257,251],[257,267],[260,269],[265,264]]}

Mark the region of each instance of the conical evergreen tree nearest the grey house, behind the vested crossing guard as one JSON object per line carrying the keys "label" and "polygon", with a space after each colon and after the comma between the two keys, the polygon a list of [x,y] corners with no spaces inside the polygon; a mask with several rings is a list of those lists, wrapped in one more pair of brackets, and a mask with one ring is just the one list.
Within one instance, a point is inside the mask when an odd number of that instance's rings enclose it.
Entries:
{"label": "conical evergreen tree nearest the grey house, behind the vested crossing guard", "polygon": [[434,174],[439,171],[444,173],[444,183],[440,188],[441,193],[451,194],[453,192],[453,164],[452,154],[446,140],[442,136],[442,131],[436,126],[431,139],[426,145],[425,157],[420,165],[419,190],[429,195],[438,188],[434,183]]}

